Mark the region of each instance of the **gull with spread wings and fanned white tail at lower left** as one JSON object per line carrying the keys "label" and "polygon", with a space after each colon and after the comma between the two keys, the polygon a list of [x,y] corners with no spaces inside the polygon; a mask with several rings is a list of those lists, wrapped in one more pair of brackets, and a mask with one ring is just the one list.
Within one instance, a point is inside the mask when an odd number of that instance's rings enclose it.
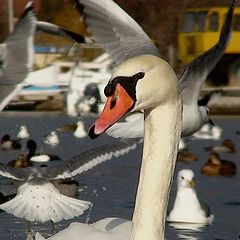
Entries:
{"label": "gull with spread wings and fanned white tail at lower left", "polygon": [[[45,166],[16,169],[0,163],[1,176],[22,182],[16,196],[0,204],[0,209],[27,221],[40,223],[56,223],[80,216],[92,203],[63,194],[66,193],[66,185],[74,181],[71,178],[133,151],[138,144],[138,141],[122,141],[99,146],[66,159],[54,168]],[[74,191],[70,189],[68,194],[71,195]]]}

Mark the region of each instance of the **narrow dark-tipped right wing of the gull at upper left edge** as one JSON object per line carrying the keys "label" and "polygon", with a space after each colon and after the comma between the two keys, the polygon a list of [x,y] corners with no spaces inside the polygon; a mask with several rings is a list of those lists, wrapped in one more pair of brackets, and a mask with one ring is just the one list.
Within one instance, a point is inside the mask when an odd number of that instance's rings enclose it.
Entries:
{"label": "narrow dark-tipped right wing of the gull at upper left edge", "polygon": [[74,40],[78,43],[85,43],[85,37],[82,35],[69,31],[64,27],[58,26],[53,23],[37,21],[36,26],[37,31],[45,32],[51,35],[56,35],[64,38],[68,38],[70,40]]}

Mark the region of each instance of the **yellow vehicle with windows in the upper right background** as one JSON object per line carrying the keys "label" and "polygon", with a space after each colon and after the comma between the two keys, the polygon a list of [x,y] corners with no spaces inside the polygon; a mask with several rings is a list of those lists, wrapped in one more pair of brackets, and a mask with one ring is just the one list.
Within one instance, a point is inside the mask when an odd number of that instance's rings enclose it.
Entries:
{"label": "yellow vehicle with windows in the upper right background", "polygon": [[[227,11],[228,7],[186,10],[183,26],[178,34],[178,53],[182,66],[191,62],[218,41]],[[210,74],[215,85],[227,84],[230,66],[234,68],[237,60],[240,62],[240,7],[234,10],[232,37],[225,55]]]}

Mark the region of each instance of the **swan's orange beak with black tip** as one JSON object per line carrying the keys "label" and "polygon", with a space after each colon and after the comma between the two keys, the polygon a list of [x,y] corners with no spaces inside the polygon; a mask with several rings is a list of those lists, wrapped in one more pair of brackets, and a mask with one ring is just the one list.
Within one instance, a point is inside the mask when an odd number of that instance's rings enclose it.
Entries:
{"label": "swan's orange beak with black tip", "polygon": [[125,113],[130,111],[135,101],[129,96],[125,89],[118,83],[112,96],[107,98],[105,107],[90,127],[88,135],[91,139],[98,137],[109,127],[116,123]]}

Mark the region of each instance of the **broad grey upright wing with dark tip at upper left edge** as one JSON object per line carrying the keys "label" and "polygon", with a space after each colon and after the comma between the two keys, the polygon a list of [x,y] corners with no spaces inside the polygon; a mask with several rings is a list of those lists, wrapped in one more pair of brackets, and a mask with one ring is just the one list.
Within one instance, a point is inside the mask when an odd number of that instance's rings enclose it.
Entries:
{"label": "broad grey upright wing with dark tip at upper left edge", "polygon": [[[36,17],[32,3],[28,3],[25,11],[16,24],[13,32],[3,43],[3,65],[0,72],[0,102],[1,110],[18,93],[19,87],[33,65],[33,35]],[[8,96],[11,93],[10,96]],[[7,99],[5,99],[8,97]]]}

